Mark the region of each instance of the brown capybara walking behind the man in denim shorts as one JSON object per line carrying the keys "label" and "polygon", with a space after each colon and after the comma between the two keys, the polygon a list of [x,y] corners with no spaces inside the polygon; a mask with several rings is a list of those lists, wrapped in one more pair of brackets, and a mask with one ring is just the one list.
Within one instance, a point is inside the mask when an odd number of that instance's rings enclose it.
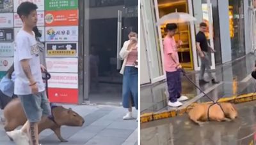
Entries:
{"label": "brown capybara walking behind the man in denim shorts", "polygon": [[[62,106],[52,107],[52,116],[54,121],[50,117],[43,117],[38,123],[38,134],[43,130],[50,128],[60,139],[61,142],[67,142],[67,140],[61,137],[60,128],[62,125],[67,125],[71,127],[81,127],[83,126],[84,119],[72,111],[72,109],[66,109]],[[4,118],[6,123],[4,125],[4,130],[10,132],[20,125],[24,125],[27,118],[20,104],[20,99],[13,99],[4,108]]]}

